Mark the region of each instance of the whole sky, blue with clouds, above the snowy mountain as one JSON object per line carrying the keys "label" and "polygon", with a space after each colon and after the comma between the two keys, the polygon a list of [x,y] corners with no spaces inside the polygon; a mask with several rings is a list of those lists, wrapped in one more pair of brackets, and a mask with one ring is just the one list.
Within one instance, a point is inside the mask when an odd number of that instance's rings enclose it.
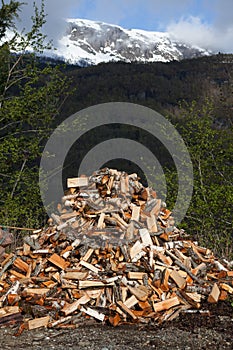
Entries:
{"label": "whole sky, blue with clouds, above the snowy mountain", "polygon": [[[27,27],[33,1],[24,1],[21,25]],[[233,53],[233,0],[45,0],[45,9],[46,34],[55,41],[65,31],[65,18],[72,17],[169,31],[188,44]]]}

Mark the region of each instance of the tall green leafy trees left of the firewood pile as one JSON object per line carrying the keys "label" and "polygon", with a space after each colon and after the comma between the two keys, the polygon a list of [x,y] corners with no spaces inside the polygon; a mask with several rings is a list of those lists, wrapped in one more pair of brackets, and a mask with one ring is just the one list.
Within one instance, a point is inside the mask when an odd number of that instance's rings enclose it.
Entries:
{"label": "tall green leafy trees left of the firewood pile", "polygon": [[[17,6],[16,6],[17,5]],[[0,15],[12,27],[19,9],[2,2]],[[41,28],[44,3],[35,5],[32,28],[3,37],[0,47],[0,224],[37,227],[46,218],[38,186],[38,164],[53,124],[68,96],[69,82],[56,66],[40,67],[35,53],[47,44]],[[4,34],[5,32],[3,32]],[[50,44],[49,44],[50,45]],[[28,49],[33,48],[34,54]],[[12,51],[14,53],[12,53]]]}

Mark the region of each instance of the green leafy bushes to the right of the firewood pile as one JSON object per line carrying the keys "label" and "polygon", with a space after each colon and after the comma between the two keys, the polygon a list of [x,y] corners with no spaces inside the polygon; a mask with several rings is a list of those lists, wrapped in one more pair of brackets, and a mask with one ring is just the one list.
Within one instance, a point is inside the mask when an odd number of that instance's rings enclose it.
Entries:
{"label": "green leafy bushes to the right of the firewood pile", "polygon": [[193,102],[182,111],[177,127],[194,167],[193,198],[183,225],[200,243],[232,256],[232,129],[213,127],[216,111],[208,100],[202,108]]}

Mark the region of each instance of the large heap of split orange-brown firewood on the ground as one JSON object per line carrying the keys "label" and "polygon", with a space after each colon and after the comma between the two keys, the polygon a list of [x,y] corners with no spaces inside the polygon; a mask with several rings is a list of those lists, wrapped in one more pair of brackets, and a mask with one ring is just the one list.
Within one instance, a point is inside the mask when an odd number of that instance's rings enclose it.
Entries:
{"label": "large heap of split orange-brown firewood on the ground", "polygon": [[231,263],[177,229],[136,174],[106,168],[67,188],[46,228],[2,252],[1,326],[161,323],[233,293]]}

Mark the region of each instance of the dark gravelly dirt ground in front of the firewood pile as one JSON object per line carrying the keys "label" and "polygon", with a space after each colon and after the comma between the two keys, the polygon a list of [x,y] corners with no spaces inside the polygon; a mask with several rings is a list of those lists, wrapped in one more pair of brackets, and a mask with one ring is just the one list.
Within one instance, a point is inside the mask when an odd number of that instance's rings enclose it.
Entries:
{"label": "dark gravelly dirt ground in front of the firewood pile", "polygon": [[14,336],[17,328],[0,329],[0,349],[233,349],[233,307],[226,302],[207,305],[210,315],[181,314],[162,325],[122,325],[113,328],[94,320],[75,329],[36,329]]}

